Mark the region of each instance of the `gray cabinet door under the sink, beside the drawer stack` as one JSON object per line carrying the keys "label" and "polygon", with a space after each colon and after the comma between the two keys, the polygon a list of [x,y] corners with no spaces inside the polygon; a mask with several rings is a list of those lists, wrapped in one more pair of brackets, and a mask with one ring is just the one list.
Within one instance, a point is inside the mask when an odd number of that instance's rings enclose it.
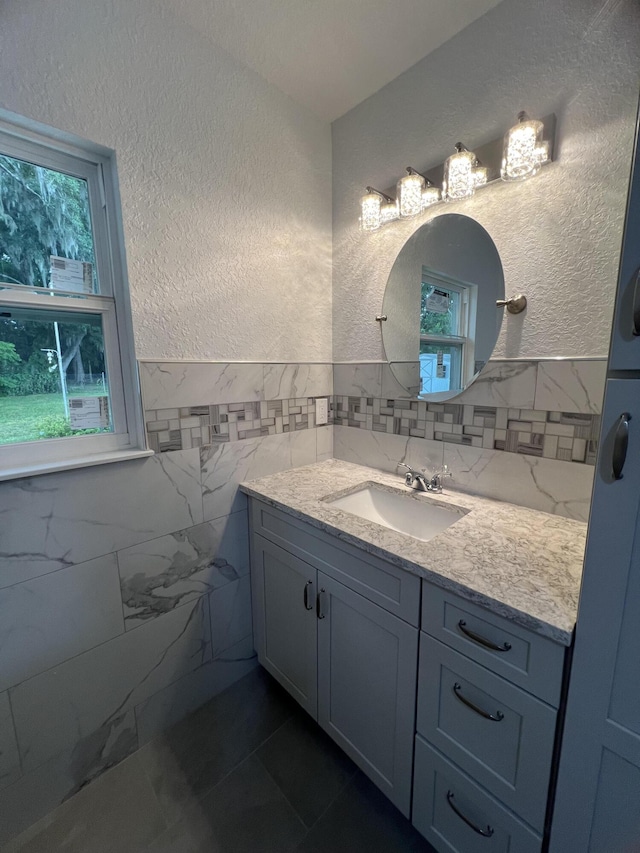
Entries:
{"label": "gray cabinet door under the sink, beside the drawer stack", "polygon": [[318,722],[409,816],[418,629],[318,572]]}

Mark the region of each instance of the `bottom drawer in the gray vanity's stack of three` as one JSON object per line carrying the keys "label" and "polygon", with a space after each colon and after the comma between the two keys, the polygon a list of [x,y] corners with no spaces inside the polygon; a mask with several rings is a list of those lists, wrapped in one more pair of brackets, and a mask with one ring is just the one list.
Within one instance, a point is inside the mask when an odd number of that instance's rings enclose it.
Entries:
{"label": "bottom drawer in the gray vanity's stack of three", "polygon": [[450,853],[540,853],[542,839],[416,736],[413,825]]}

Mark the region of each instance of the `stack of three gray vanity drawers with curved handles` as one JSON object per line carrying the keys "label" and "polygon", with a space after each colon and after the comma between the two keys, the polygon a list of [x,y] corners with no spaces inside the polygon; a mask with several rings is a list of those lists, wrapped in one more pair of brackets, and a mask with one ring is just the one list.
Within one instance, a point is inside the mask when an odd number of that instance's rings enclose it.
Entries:
{"label": "stack of three gray vanity drawers with curved handles", "polygon": [[422,628],[414,825],[438,850],[539,853],[564,647],[426,583]]}

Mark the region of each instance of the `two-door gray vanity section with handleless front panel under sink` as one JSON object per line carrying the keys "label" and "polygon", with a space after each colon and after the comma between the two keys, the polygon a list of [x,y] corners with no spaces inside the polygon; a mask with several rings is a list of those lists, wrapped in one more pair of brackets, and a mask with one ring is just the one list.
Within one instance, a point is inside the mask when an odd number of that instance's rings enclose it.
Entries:
{"label": "two-door gray vanity section with handleless front panel under sink", "polygon": [[260,663],[409,817],[419,579],[251,503]]}

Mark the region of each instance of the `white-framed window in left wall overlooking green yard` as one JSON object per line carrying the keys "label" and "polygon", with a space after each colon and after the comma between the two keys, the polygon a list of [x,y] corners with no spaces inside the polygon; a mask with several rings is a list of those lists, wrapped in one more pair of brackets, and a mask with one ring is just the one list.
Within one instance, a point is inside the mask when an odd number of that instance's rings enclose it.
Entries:
{"label": "white-framed window in left wall overlooking green yard", "polygon": [[148,453],[111,153],[0,121],[0,479]]}

